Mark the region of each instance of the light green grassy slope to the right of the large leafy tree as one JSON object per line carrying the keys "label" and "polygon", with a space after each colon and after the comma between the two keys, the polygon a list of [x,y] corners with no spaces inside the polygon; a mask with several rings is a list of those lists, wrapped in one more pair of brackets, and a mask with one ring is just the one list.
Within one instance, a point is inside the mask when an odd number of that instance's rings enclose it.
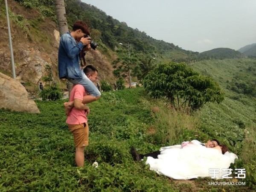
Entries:
{"label": "light green grassy slope to the right of the large leafy tree", "polygon": [[[230,89],[230,85],[238,84],[238,82],[252,84],[252,88],[256,88],[255,59],[201,61],[192,64],[192,68],[204,75],[211,76],[220,84],[226,96],[221,105],[210,104],[204,108],[205,111],[202,111],[203,113],[207,113],[207,111],[211,110],[216,116],[208,117],[215,118],[216,120],[219,119],[219,121],[216,121],[214,125],[212,125],[212,129],[214,129],[216,125],[218,125],[219,128],[236,126],[237,121],[243,122],[246,126],[252,126],[253,123],[256,122],[256,96],[252,96],[250,94],[245,95],[238,93],[235,89]],[[215,109],[213,110],[212,108]],[[225,116],[225,121],[224,119],[220,119],[221,115]],[[229,120],[227,121],[227,119]]]}

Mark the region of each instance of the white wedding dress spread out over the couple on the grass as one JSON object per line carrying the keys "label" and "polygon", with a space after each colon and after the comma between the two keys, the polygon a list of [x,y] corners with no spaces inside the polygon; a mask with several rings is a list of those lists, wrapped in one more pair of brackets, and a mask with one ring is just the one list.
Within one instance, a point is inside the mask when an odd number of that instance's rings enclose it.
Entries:
{"label": "white wedding dress spread out over the couple on the grass", "polygon": [[209,174],[212,169],[219,169],[215,178],[221,178],[227,174],[222,169],[228,169],[230,163],[238,158],[230,152],[222,154],[218,149],[198,145],[186,145],[183,148],[181,145],[173,145],[162,147],[160,151],[158,159],[147,157],[145,163],[150,165],[150,170],[160,175],[180,180],[212,177]]}

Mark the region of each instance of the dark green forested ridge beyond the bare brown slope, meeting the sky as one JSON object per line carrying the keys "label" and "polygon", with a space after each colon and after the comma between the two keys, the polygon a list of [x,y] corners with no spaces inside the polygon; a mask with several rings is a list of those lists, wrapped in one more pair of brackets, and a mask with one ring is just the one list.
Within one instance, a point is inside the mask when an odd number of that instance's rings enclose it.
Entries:
{"label": "dark green forested ridge beyond the bare brown slope, meeting the sky", "polygon": [[[184,50],[173,43],[154,39],[145,32],[133,29],[125,22],[120,22],[96,6],[81,0],[65,0],[65,3],[68,23],[72,25],[78,18],[86,20],[90,26],[92,38],[111,50],[115,50],[119,43],[129,43],[134,52],[142,52],[154,58],[163,56],[167,60],[177,61],[187,61],[190,60],[191,55],[195,57],[198,54],[198,52]],[[44,1],[41,4],[45,4]]]}

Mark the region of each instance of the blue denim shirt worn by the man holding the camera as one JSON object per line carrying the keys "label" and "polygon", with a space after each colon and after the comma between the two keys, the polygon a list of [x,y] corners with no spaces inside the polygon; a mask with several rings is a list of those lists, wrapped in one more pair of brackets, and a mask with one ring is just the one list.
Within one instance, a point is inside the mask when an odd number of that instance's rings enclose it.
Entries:
{"label": "blue denim shirt worn by the man holding the camera", "polygon": [[79,53],[84,48],[82,42],[77,43],[69,32],[63,34],[58,49],[59,78],[82,78]]}

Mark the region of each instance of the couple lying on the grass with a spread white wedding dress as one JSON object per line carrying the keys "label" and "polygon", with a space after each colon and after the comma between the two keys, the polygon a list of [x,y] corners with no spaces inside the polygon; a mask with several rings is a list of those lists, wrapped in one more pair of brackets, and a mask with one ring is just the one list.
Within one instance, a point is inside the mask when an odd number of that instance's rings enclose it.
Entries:
{"label": "couple lying on the grass with a spread white wedding dress", "polygon": [[147,157],[143,163],[149,165],[150,170],[178,180],[198,177],[224,178],[230,164],[238,158],[226,145],[219,145],[216,140],[209,140],[204,146],[194,140],[184,143],[184,146],[161,147],[160,151],[148,154],[138,154],[132,147],[131,154],[137,161]]}

